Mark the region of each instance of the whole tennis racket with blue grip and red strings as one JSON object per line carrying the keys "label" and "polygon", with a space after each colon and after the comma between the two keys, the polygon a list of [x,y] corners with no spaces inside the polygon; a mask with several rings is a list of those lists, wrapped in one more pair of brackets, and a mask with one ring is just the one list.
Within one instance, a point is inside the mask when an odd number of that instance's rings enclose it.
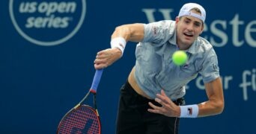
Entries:
{"label": "whole tennis racket with blue grip and red strings", "polygon": [[[58,134],[100,134],[100,115],[97,111],[96,92],[103,69],[96,70],[91,89],[85,97],[64,115],[58,124]],[[82,104],[90,94],[94,96],[94,107]]]}

